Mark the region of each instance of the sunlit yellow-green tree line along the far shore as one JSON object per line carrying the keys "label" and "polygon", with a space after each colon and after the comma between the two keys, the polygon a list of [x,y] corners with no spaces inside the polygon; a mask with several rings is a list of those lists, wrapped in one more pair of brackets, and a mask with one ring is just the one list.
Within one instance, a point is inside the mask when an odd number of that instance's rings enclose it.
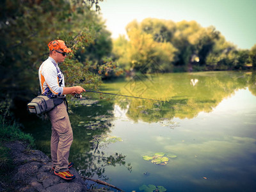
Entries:
{"label": "sunlit yellow-green tree line along the far shore", "polygon": [[151,73],[156,63],[161,72],[256,68],[256,44],[237,49],[214,26],[203,28],[194,20],[133,20],[126,31],[128,38],[119,36],[113,43],[113,58],[126,70]]}

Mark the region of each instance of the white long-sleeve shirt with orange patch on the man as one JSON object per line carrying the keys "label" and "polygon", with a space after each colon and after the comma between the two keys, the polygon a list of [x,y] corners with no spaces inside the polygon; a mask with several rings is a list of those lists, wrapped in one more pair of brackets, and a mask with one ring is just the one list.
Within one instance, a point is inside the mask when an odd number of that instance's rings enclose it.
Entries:
{"label": "white long-sleeve shirt with orange patch on the man", "polygon": [[51,57],[42,63],[38,70],[41,92],[48,97],[63,96],[64,76],[58,63]]}

